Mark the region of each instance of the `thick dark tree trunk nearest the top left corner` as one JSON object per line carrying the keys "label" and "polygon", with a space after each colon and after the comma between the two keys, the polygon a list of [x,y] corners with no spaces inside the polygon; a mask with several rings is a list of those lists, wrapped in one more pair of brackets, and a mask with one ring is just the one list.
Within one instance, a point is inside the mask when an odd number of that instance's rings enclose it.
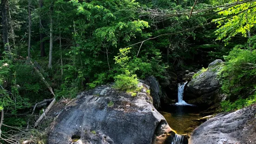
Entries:
{"label": "thick dark tree trunk nearest the top left corner", "polygon": [[2,4],[2,29],[3,29],[3,44],[6,52],[10,52],[9,36],[8,36],[8,20],[7,20],[7,6],[8,0],[1,0]]}

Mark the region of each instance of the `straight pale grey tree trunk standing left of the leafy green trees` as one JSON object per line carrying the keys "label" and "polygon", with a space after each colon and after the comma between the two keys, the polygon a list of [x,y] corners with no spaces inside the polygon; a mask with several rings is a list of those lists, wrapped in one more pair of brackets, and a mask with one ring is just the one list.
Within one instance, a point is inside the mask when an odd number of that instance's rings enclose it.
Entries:
{"label": "straight pale grey tree trunk standing left of the leafy green trees", "polygon": [[50,7],[50,22],[51,22],[51,26],[50,26],[50,51],[49,51],[48,67],[53,68],[53,65],[52,65],[52,59],[53,59],[53,4]]}

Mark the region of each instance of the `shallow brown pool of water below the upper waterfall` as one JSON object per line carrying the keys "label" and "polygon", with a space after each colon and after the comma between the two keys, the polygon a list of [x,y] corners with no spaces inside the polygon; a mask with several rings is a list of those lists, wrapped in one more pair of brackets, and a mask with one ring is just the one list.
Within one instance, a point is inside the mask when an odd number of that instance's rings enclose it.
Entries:
{"label": "shallow brown pool of water below the upper waterfall", "polygon": [[178,134],[190,133],[194,128],[202,124],[195,120],[202,118],[196,106],[189,105],[167,105],[160,111],[170,127]]}

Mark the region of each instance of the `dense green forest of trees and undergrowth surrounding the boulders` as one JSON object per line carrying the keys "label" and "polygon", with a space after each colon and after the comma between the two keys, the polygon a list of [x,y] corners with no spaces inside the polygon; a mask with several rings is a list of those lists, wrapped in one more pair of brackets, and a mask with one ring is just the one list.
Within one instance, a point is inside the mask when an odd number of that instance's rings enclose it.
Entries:
{"label": "dense green forest of trees and undergrowth surrounding the boulders", "polygon": [[139,79],[174,73],[177,83],[184,82],[180,72],[203,72],[215,59],[225,63],[217,79],[227,96],[216,111],[256,103],[256,0],[1,0],[0,5],[1,144],[32,136],[24,144],[46,144],[44,129],[35,123],[53,101],[108,84],[135,97]]}

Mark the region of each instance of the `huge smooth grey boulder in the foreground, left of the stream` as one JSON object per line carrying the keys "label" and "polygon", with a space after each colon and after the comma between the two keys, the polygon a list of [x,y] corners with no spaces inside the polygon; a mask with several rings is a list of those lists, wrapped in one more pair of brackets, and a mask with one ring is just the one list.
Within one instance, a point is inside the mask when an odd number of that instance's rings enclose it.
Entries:
{"label": "huge smooth grey boulder in the foreground, left of the stream", "polygon": [[[82,92],[71,102],[60,101],[50,115],[47,144],[162,144],[173,131],[154,108],[143,88],[136,97],[102,85]],[[50,119],[50,118],[49,118]],[[168,134],[169,133],[169,134]]]}

